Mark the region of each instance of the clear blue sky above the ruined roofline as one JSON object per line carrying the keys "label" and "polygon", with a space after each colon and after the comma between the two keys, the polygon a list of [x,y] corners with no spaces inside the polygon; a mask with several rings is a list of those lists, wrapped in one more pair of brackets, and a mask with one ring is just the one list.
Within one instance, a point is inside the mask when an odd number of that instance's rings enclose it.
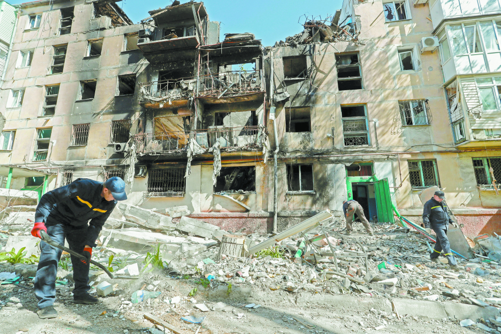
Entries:
{"label": "clear blue sky above the ruined roofline", "polygon": [[[186,3],[186,0],[180,0]],[[10,1],[12,5],[24,1]],[[149,16],[148,11],[164,8],[171,0],[123,0],[117,3],[137,23]],[[221,22],[221,39],[226,33],[252,33],[264,46],[273,46],[303,31],[303,15],[324,20],[341,9],[342,0],[205,0],[210,21]],[[303,16],[300,20],[300,17]],[[298,23],[298,20],[301,23]]]}

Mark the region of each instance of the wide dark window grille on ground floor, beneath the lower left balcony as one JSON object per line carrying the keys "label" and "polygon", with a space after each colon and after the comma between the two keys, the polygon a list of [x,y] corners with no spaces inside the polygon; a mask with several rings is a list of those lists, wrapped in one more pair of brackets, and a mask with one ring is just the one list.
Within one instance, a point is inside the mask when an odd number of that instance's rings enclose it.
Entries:
{"label": "wide dark window grille on ground floor, beneath the lower left balcony", "polygon": [[184,196],[186,179],[184,168],[150,169],[148,171],[149,196]]}

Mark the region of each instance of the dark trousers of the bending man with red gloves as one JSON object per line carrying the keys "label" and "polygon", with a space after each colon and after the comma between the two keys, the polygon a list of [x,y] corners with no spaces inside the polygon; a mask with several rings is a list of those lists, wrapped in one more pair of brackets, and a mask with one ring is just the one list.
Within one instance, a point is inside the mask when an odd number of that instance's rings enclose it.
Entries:
{"label": "dark trousers of the bending man with red gloves", "polygon": [[[47,234],[52,240],[64,246],[64,240],[68,241],[71,250],[83,252],[87,236],[87,226],[75,228],[69,225],[57,224],[47,226]],[[58,262],[63,252],[59,248],[40,242],[42,254],[38,263],[37,274],[35,275],[35,295],[40,308],[54,304],[56,300],[56,276],[58,273]],[[75,281],[74,296],[87,293],[90,289],[89,267],[90,264],[82,263],[81,259],[71,255],[73,264],[73,280]]]}

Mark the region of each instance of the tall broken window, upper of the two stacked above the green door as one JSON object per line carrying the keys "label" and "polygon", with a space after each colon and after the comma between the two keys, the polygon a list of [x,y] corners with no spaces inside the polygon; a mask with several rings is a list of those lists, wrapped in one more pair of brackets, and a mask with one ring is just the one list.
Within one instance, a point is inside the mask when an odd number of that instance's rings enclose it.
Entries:
{"label": "tall broken window, upper of the two stacked above the green door", "polygon": [[358,53],[336,55],[336,69],[338,71],[338,90],[348,91],[362,89],[362,68]]}

